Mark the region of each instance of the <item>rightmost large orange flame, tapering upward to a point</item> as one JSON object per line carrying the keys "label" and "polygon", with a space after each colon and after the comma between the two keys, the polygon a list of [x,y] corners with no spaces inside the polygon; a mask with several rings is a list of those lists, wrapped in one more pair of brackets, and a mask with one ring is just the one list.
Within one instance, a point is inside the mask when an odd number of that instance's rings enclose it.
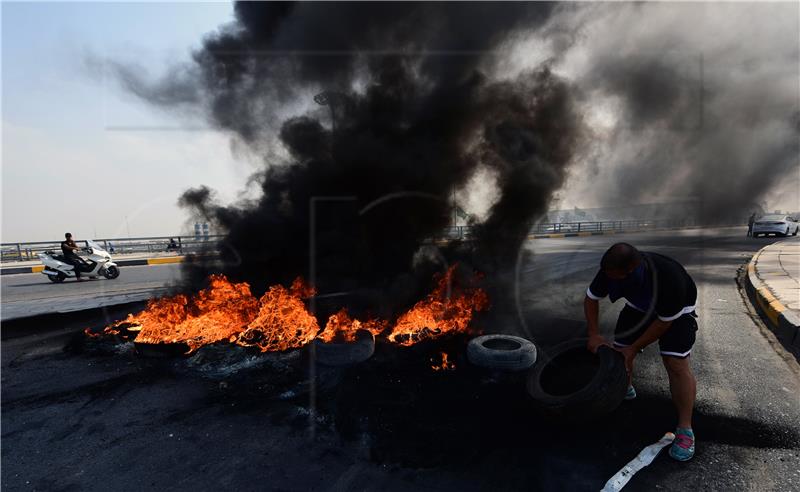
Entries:
{"label": "rightmost large orange flame, tapering upward to a point", "polygon": [[448,268],[438,278],[433,291],[397,319],[389,341],[413,345],[447,334],[468,332],[473,314],[489,307],[489,296],[480,288],[454,285],[457,266]]}

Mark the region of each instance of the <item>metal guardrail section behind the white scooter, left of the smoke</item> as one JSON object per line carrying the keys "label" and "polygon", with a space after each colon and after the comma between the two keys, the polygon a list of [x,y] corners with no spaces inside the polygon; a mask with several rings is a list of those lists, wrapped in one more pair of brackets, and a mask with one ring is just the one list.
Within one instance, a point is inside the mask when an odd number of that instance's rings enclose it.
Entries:
{"label": "metal guardrail section behind the white scooter, left of the smoke", "polygon": [[[224,236],[157,236],[157,237],[131,237],[131,238],[101,238],[92,241],[101,244],[109,253],[135,254],[135,253],[166,253],[175,252],[179,254],[196,253],[222,239]],[[167,249],[169,240],[174,239],[177,243],[176,249]],[[78,245],[86,245],[83,240],[76,241]],[[25,243],[2,243],[0,244],[0,262],[7,263],[13,261],[27,261],[39,259],[39,253],[44,251],[61,251],[61,241],[34,241]]]}

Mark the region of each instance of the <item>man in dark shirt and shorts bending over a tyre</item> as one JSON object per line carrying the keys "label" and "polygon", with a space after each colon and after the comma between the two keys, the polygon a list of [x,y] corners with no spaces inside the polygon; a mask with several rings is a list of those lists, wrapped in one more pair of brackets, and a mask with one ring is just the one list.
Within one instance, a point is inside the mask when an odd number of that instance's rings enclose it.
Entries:
{"label": "man in dark shirt and shorts bending over a tyre", "polygon": [[694,456],[692,409],[697,388],[689,365],[697,331],[697,287],[692,277],[672,258],[640,252],[627,243],[611,246],[600,260],[600,271],[583,301],[589,332],[587,348],[592,352],[608,344],[598,327],[598,301],[606,296],[611,302],[625,299],[614,331],[614,348],[625,356],[628,370],[625,399],[636,398],[631,384],[636,354],[658,340],[678,412],[678,428],[669,455],[678,461],[690,460]]}

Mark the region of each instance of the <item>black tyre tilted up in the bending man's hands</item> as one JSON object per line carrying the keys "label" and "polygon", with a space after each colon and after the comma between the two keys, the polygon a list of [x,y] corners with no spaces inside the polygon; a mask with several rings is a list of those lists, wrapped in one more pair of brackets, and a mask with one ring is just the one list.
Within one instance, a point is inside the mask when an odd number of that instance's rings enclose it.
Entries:
{"label": "black tyre tilted up in the bending man's hands", "polygon": [[609,347],[592,354],[583,340],[556,347],[528,376],[533,405],[553,417],[591,419],[608,414],[622,403],[627,388],[622,354]]}

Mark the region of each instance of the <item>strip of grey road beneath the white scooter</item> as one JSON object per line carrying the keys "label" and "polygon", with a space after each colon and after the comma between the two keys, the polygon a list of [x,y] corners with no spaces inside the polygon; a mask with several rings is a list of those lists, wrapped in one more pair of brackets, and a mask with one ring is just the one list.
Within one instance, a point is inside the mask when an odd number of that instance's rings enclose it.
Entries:
{"label": "strip of grey road beneath the white scooter", "polygon": [[178,264],[120,267],[120,276],[114,280],[100,277],[60,284],[50,282],[41,273],[3,275],[0,319],[141,301],[165,292],[165,286],[178,280],[179,275]]}

